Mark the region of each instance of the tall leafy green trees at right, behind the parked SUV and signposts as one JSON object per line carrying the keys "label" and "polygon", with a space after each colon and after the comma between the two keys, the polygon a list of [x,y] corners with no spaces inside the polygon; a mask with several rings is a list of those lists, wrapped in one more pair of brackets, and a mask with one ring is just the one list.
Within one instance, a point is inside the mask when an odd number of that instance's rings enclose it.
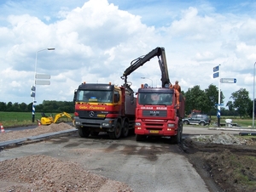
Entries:
{"label": "tall leafy green trees at right, behind the parked SUV and signposts", "polygon": [[[209,85],[205,90],[201,90],[199,85],[189,88],[185,97],[185,110],[189,114],[191,110],[201,110],[202,113],[210,116],[217,116],[218,110],[218,88]],[[220,92],[220,103],[224,102],[224,93]],[[221,116],[253,116],[253,100],[249,98],[249,92],[245,88],[231,93],[227,104],[220,107]],[[226,109],[227,108],[227,109]]]}

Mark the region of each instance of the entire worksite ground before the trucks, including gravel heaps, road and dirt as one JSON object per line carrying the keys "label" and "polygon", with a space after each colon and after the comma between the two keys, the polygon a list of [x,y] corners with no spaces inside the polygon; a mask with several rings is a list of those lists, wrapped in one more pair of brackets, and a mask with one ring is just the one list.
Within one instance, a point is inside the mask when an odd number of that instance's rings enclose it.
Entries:
{"label": "entire worksite ground before the trucks, including gravel heaps, road and dirt", "polygon": [[[0,134],[0,143],[68,129],[67,125]],[[184,127],[182,144],[167,138],[77,133],[0,152],[1,191],[256,191],[254,138],[240,130]],[[193,165],[193,166],[192,166]],[[199,176],[200,175],[200,176]]]}

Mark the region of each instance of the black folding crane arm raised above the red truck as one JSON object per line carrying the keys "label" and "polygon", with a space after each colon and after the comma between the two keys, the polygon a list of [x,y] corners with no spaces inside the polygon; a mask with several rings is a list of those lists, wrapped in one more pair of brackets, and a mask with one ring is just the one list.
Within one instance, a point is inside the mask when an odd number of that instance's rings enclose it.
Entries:
{"label": "black folding crane arm raised above the red truck", "polygon": [[167,69],[167,63],[166,63],[166,51],[165,48],[154,48],[151,52],[148,54],[139,57],[137,59],[134,59],[131,61],[131,65],[125,70],[123,73],[123,76],[121,76],[121,79],[125,80],[124,87],[128,88],[130,92],[133,92],[130,86],[127,85],[127,76],[129,76],[133,71],[136,71],[137,68],[140,66],[143,66],[146,62],[148,62],[150,59],[154,58],[155,56],[158,57],[158,62],[160,65],[160,71],[161,71],[161,82],[162,82],[162,88],[165,88],[166,85],[171,84]]}

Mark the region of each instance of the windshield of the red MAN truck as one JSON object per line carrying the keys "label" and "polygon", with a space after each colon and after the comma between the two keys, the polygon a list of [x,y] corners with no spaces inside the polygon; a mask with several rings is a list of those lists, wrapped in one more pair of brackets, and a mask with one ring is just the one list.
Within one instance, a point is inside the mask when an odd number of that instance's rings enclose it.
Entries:
{"label": "windshield of the red MAN truck", "polygon": [[170,93],[139,93],[139,104],[165,104],[172,105],[172,94]]}

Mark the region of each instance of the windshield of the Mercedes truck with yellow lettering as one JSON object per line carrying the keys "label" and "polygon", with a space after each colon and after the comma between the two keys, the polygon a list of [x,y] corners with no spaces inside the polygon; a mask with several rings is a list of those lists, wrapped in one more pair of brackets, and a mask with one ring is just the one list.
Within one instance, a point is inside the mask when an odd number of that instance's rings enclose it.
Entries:
{"label": "windshield of the Mercedes truck with yellow lettering", "polygon": [[113,92],[103,90],[78,90],[77,101],[113,103]]}

